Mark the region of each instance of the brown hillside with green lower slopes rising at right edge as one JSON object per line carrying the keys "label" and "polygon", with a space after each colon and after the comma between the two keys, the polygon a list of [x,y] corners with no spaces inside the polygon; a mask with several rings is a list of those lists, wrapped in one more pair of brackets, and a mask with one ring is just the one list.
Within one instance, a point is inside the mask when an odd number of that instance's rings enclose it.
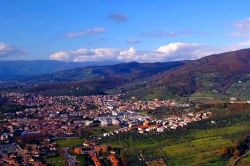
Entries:
{"label": "brown hillside with green lower slopes rising at right edge", "polygon": [[130,95],[250,98],[250,49],[216,54],[128,89]]}

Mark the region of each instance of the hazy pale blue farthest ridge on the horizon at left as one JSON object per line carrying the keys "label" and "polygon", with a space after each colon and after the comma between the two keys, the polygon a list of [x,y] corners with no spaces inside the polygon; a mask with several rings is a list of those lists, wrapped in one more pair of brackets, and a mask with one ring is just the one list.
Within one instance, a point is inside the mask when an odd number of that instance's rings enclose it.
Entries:
{"label": "hazy pale blue farthest ridge on the horizon at left", "polygon": [[54,60],[0,61],[0,81],[17,80],[29,76],[54,73],[76,67],[110,65],[113,62],[62,62]]}

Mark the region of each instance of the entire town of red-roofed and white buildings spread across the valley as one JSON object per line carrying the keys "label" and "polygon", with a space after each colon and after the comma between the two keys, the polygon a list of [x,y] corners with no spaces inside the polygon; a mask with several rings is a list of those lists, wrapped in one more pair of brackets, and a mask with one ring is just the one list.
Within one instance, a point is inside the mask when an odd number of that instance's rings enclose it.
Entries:
{"label": "entire town of red-roofed and white buildings spread across the valley", "polygon": [[[65,155],[71,165],[76,159],[71,154],[87,154],[94,165],[102,165],[99,156],[108,151],[113,165],[119,156],[112,147],[100,145],[103,138],[136,131],[161,133],[176,130],[188,123],[212,116],[211,112],[197,111],[156,119],[145,110],[175,107],[189,108],[187,103],[174,100],[124,100],[120,95],[97,96],[41,96],[37,94],[7,93],[1,100],[18,105],[23,110],[4,113],[0,123],[0,165],[47,165],[41,156],[58,154],[54,140],[86,136],[88,128],[108,129],[88,137],[77,147],[68,147]],[[70,157],[69,157],[70,156]]]}

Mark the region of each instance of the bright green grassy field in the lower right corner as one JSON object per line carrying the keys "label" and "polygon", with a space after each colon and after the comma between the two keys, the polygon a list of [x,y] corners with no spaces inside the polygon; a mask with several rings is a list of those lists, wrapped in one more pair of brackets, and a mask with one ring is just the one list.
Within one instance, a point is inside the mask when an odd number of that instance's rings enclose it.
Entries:
{"label": "bright green grassy field in the lower right corner", "polygon": [[[236,124],[230,127],[195,131],[196,139],[187,140],[180,144],[165,146],[164,152],[169,157],[170,165],[226,165],[221,159],[219,150],[230,146],[235,134],[250,132],[250,124]],[[232,136],[232,137],[231,137]],[[188,163],[188,164],[187,164]]]}

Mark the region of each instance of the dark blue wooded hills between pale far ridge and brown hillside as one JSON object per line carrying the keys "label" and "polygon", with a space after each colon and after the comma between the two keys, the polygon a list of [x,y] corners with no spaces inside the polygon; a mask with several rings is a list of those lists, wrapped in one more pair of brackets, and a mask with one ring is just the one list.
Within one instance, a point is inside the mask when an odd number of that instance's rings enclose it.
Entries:
{"label": "dark blue wooded hills between pale far ridge and brown hillside", "polygon": [[[110,66],[92,66],[42,74],[19,79],[11,86],[17,91],[36,92],[49,95],[106,94],[108,90],[136,82],[147,81],[151,76],[173,70],[185,61],[165,63],[123,63]],[[3,87],[3,85],[2,85]],[[6,85],[4,90],[9,88]]]}

